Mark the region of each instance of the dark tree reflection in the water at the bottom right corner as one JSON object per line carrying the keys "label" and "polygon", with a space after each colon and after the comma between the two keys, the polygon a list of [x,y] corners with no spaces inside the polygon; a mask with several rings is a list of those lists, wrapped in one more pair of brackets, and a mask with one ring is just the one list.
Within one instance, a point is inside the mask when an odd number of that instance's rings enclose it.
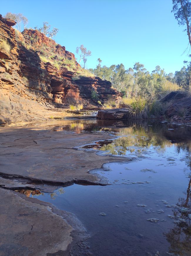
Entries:
{"label": "dark tree reflection in the water at the bottom right corner", "polygon": [[[179,198],[177,209],[173,211],[176,226],[165,234],[170,243],[170,252],[175,255],[191,255],[191,223],[188,213],[191,211],[191,179],[188,183],[186,198]],[[180,219],[185,222],[178,221]]]}

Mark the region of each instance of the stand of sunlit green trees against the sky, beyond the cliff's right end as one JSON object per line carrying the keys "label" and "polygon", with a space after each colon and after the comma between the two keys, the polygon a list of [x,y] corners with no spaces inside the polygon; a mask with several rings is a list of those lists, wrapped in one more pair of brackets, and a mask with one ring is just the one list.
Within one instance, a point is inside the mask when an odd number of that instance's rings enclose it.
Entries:
{"label": "stand of sunlit green trees against the sky, beyond the cliff's right end", "polygon": [[90,71],[95,76],[110,81],[112,87],[122,92],[126,98],[153,97],[160,99],[168,92],[180,89],[175,84],[173,74],[167,75],[160,66],[156,66],[156,69],[149,73],[139,62],[127,70],[122,63],[117,66],[101,67],[101,60],[98,59],[98,62],[96,69],[90,69]]}

